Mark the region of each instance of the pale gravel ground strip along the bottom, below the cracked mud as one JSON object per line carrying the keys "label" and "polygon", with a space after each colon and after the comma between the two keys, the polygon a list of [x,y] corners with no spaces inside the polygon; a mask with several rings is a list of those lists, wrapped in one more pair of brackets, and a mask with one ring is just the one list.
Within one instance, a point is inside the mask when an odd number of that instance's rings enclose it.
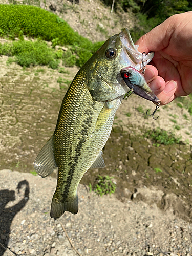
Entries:
{"label": "pale gravel ground strip along the bottom, below the cracked mud", "polygon": [[66,212],[53,220],[49,209],[55,186],[52,177],[0,171],[0,255],[77,255],[62,225],[81,255],[192,254],[192,224],[176,219],[171,209],[98,197],[83,185],[78,214]]}

